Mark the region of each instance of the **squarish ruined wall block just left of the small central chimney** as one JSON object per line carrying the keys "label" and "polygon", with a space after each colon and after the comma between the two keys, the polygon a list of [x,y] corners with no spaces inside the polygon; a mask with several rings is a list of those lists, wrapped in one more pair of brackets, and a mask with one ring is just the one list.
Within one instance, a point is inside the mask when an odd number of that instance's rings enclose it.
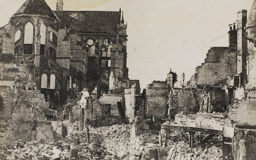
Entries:
{"label": "squarish ruined wall block just left of the small central chimney", "polygon": [[153,81],[146,88],[147,117],[165,118],[168,100],[166,82]]}

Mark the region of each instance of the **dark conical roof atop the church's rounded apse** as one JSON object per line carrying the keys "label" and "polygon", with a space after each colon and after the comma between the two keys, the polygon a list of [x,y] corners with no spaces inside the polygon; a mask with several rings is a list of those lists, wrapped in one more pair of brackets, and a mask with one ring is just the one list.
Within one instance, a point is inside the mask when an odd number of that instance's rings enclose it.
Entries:
{"label": "dark conical roof atop the church's rounded apse", "polygon": [[46,4],[44,0],[26,0],[26,2],[20,7],[20,9],[15,14],[21,13],[34,13],[49,16],[53,19],[56,18],[51,8]]}

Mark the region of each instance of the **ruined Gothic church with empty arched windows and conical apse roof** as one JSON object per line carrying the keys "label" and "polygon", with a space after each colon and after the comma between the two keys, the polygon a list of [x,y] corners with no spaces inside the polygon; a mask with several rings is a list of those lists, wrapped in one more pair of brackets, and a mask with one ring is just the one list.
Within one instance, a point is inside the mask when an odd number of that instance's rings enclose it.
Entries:
{"label": "ruined Gothic church with empty arched windows and conical apse roof", "polygon": [[85,87],[90,93],[108,93],[110,73],[116,83],[125,82],[116,86],[115,94],[139,84],[128,78],[127,25],[121,9],[62,11],[62,0],[56,9],[52,11],[44,0],[26,0],[0,28],[0,53],[31,64],[29,78],[50,108],[60,108]]}

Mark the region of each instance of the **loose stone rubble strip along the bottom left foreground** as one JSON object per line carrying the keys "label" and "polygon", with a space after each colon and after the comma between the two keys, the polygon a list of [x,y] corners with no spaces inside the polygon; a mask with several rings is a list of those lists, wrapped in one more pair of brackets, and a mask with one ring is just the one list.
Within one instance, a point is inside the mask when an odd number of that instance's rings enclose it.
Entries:
{"label": "loose stone rubble strip along the bottom left foreground", "polygon": [[49,159],[104,159],[112,160],[113,155],[96,143],[80,143],[68,140],[59,140],[56,143],[27,142],[23,144],[15,141],[13,144],[3,146],[0,150],[0,159],[32,159],[32,160],[49,160]]}

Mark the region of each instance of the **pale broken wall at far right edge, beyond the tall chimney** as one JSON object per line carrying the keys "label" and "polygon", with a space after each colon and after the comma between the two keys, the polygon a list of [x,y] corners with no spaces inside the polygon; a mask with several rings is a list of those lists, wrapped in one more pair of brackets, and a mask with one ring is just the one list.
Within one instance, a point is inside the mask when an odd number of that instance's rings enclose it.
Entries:
{"label": "pale broken wall at far right edge, beyond the tall chimney", "polygon": [[[238,17],[239,13],[238,12]],[[237,65],[237,74],[228,78],[226,92],[229,95],[229,116],[237,124],[256,125],[256,81],[255,81],[255,19],[256,2],[252,4],[251,12],[246,19],[246,10],[242,10],[244,15],[244,51],[241,54],[242,67]],[[241,13],[240,13],[241,14]],[[241,70],[242,68],[242,70]],[[244,74],[243,74],[244,68]],[[242,72],[241,72],[242,71]],[[250,115],[250,116],[248,116]]]}

